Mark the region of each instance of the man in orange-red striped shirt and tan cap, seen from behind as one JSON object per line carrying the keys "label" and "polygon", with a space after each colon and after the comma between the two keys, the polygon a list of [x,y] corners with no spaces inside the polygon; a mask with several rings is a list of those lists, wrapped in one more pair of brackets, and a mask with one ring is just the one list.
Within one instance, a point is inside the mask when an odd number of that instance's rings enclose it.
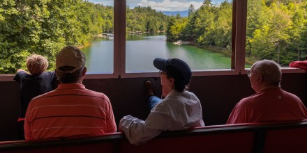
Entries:
{"label": "man in orange-red striped shirt and tan cap, seen from behind", "polygon": [[117,131],[109,98],[82,84],[87,67],[77,47],[65,47],[57,55],[57,89],[34,97],[26,113],[26,140],[95,136]]}

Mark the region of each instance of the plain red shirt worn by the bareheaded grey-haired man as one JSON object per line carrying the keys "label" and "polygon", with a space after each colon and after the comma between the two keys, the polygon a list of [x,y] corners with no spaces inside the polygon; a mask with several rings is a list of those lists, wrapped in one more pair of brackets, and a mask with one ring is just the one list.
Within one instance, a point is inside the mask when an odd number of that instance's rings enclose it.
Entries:
{"label": "plain red shirt worn by the bareheaded grey-haired man", "polygon": [[280,88],[273,88],[241,99],[232,110],[227,124],[304,119],[307,119],[307,109],[301,99]]}

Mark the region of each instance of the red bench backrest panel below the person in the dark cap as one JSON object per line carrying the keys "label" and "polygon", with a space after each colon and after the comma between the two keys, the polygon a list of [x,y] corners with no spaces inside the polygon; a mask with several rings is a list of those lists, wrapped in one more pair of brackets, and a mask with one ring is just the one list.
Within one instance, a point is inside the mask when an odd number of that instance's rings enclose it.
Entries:
{"label": "red bench backrest panel below the person in the dark cap", "polygon": [[121,143],[121,152],[253,152],[254,132],[156,138],[143,145]]}

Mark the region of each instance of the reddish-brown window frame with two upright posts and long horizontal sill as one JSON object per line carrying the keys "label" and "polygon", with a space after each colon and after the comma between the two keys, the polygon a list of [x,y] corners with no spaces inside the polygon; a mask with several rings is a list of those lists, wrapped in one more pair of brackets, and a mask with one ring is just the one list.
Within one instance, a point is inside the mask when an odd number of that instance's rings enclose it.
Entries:
{"label": "reddish-brown window frame with two upright posts and long horizontal sill", "polygon": [[[230,69],[193,70],[193,76],[246,74],[247,0],[232,1],[232,59]],[[126,73],[126,0],[114,0],[114,70],[112,74],[86,74],[85,79],[159,77],[157,72]],[[306,73],[306,70],[282,67],[283,73]],[[15,74],[0,74],[0,81],[12,81]]]}

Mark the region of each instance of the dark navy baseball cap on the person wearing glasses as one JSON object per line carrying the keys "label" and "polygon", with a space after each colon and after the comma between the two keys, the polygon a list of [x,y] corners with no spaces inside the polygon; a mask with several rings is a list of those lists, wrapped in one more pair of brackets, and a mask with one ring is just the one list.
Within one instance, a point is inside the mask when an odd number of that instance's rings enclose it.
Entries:
{"label": "dark navy baseball cap on the person wearing glasses", "polygon": [[188,85],[192,77],[192,71],[188,64],[178,58],[156,58],[153,60],[153,65],[158,69],[170,74],[170,76],[176,78],[178,75],[181,75],[182,86]]}

